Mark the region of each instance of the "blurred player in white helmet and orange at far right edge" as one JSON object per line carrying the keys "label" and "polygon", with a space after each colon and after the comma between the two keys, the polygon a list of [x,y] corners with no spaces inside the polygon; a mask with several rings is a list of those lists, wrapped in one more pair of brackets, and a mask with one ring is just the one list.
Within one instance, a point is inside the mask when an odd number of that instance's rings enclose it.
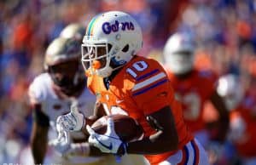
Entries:
{"label": "blurred player in white helmet and orange at far right edge", "polygon": [[255,97],[245,91],[240,77],[233,74],[219,78],[218,94],[224,98],[225,104],[230,110],[230,133],[228,137],[235,145],[238,158],[241,159],[240,164],[256,164]]}

